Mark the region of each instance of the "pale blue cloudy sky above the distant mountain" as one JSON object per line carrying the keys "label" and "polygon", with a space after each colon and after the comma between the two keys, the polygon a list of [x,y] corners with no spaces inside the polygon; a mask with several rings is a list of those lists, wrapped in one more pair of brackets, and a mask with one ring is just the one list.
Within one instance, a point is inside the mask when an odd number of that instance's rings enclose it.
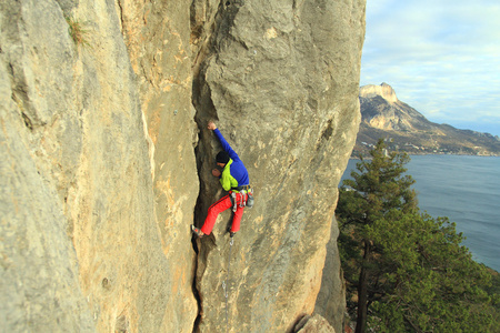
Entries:
{"label": "pale blue cloudy sky above the distant mountain", "polygon": [[367,0],[361,85],[428,120],[500,135],[500,0]]}

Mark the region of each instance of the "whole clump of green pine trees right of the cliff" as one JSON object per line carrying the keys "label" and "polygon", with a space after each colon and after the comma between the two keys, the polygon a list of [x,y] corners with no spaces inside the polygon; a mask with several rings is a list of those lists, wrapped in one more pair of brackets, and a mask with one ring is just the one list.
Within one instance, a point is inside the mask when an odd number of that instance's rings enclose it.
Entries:
{"label": "whole clump of green pine trees right of the cliff", "polygon": [[381,140],[370,154],[344,181],[337,208],[357,332],[492,332],[498,280],[494,289],[454,223],[419,211],[408,155],[384,154]]}

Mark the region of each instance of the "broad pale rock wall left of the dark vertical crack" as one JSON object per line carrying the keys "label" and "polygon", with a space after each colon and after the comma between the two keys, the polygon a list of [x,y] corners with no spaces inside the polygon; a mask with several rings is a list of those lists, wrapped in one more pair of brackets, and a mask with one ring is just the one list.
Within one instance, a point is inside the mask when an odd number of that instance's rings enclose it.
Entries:
{"label": "broad pale rock wall left of the dark vertical crack", "polygon": [[[156,51],[164,39],[149,38],[147,60],[163,70],[176,63],[186,82],[171,100],[167,85],[144,88],[118,4],[0,4],[7,331],[192,331],[189,223],[198,183],[189,53],[182,65],[177,53],[162,60]],[[189,6],[181,9],[174,18],[188,47]],[[70,38],[64,16],[82,24],[84,44]],[[164,77],[152,70],[144,80]]]}

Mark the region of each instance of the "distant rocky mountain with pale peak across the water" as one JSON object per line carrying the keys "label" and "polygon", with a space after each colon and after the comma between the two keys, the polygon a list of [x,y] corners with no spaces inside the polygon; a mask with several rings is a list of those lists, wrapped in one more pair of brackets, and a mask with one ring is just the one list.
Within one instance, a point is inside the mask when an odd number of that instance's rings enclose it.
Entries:
{"label": "distant rocky mountain with pale peak across the water", "polygon": [[387,83],[360,88],[361,124],[353,155],[366,154],[379,138],[389,150],[410,154],[500,155],[500,139],[489,133],[438,124],[398,100]]}

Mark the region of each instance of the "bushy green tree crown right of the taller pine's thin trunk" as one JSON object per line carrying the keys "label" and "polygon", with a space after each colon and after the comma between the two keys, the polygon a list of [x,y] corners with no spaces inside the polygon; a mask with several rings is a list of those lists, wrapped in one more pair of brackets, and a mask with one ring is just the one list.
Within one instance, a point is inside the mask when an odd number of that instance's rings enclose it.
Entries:
{"label": "bushy green tree crown right of the taller pine's thin trunk", "polygon": [[[372,240],[380,244],[386,295],[373,302],[380,330],[394,332],[472,332],[487,329],[490,299],[479,285],[490,275],[471,259],[448,219],[396,212],[378,221]],[[391,314],[387,316],[387,314]],[[393,321],[394,315],[399,321]]]}

